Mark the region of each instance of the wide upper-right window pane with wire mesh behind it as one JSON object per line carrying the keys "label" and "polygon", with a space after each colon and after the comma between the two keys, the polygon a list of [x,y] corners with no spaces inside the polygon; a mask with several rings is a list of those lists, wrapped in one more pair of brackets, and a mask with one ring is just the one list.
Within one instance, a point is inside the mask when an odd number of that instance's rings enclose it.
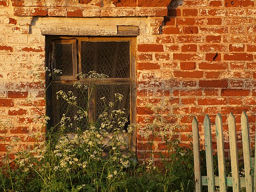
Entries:
{"label": "wide upper-right window pane with wire mesh behind it", "polygon": [[82,42],[82,72],[95,70],[110,78],[130,77],[129,41]]}

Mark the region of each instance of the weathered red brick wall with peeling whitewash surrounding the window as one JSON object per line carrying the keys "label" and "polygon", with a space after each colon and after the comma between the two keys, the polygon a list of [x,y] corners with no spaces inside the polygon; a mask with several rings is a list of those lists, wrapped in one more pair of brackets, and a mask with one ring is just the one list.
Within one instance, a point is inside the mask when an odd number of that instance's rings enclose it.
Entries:
{"label": "weathered red brick wall with peeling whitewash surrounding the window", "polygon": [[[229,112],[239,117],[245,110],[255,131],[254,0],[0,0],[0,119],[10,122],[0,136],[7,131],[29,144],[43,127],[35,105],[44,112],[44,85],[34,75],[44,82],[45,41],[28,16],[146,17],[148,31],[137,37],[137,123],[152,116],[146,102],[168,100],[166,118],[179,116],[186,126],[182,141],[191,134],[192,115],[201,125],[205,114],[214,123],[221,113],[226,122]],[[138,154],[141,141],[138,134]]]}

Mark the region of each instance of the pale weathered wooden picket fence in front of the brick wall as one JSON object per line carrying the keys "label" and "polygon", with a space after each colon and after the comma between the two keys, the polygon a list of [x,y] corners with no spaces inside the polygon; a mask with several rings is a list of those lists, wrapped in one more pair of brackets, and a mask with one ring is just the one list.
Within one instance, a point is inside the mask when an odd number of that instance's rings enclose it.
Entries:
{"label": "pale weathered wooden picket fence in front of the brick wall", "polygon": [[214,176],[214,168],[216,167],[213,165],[211,122],[208,115],[205,116],[203,124],[207,176],[201,176],[198,122],[195,117],[193,118],[192,132],[195,192],[201,192],[202,186],[208,186],[208,192],[215,192],[216,186],[219,186],[220,192],[227,192],[227,187],[232,187],[233,192],[239,192],[241,187],[245,187],[246,192],[256,192],[256,171],[254,171],[254,167],[256,167],[256,158],[251,158],[248,117],[245,112],[242,113],[241,131],[245,177],[239,176],[236,125],[232,113],[229,114],[227,121],[232,176],[226,177],[223,124],[220,114],[218,114],[215,119],[219,176]]}

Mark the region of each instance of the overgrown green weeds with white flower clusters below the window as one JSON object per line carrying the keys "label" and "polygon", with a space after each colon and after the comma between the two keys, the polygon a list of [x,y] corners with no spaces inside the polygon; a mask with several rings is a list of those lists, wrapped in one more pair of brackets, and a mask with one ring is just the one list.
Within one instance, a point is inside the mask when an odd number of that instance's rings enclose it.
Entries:
{"label": "overgrown green weeds with white flower clusters below the window", "polygon": [[[83,77],[83,74],[79,75]],[[55,72],[51,76],[56,76]],[[93,72],[85,77],[93,79],[105,76]],[[79,83],[75,87],[80,91],[88,88]],[[120,94],[115,96],[114,102],[104,101],[106,109],[122,100]],[[192,149],[180,146],[173,130],[180,127],[165,123],[158,110],[154,110],[156,119],[153,124],[138,129],[150,141],[151,149],[155,139],[162,138],[166,144],[165,151],[162,153],[150,150],[152,156],[143,163],[138,163],[125,142],[127,135],[136,126],[130,125],[125,130],[128,120],[123,110],[112,110],[111,113],[105,110],[98,120],[92,122],[88,118],[88,106],[77,106],[76,98],[71,92],[60,91],[58,97],[64,99],[68,106],[75,105],[78,109],[74,118],[78,125],[75,133],[70,131],[73,130],[72,118],[65,113],[61,122],[56,125],[59,131],[56,131],[56,127],[50,128],[44,142],[18,152],[12,162],[9,155],[15,150],[16,144],[13,144],[13,148],[9,147],[11,144],[6,145],[7,154],[0,166],[0,191],[193,191]],[[154,155],[159,156],[158,161],[154,161]]]}

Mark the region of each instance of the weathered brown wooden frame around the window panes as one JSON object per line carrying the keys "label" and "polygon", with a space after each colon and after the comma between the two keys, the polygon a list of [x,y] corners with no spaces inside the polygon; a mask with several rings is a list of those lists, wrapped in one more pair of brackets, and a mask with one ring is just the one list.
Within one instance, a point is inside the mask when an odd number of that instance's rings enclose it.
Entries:
{"label": "weathered brown wooden frame around the window panes", "polygon": [[[47,36],[46,37],[46,51],[47,56],[46,59],[48,60],[48,67],[50,69],[57,68],[54,63],[54,43],[71,43],[72,44],[72,56],[73,56],[73,75],[72,76],[58,76],[53,81],[53,83],[61,83],[61,84],[72,84],[74,82],[79,81],[77,78],[77,74],[82,72],[82,62],[81,62],[81,42],[82,41],[98,41],[98,42],[106,42],[106,41],[129,41],[129,49],[130,49],[130,77],[129,78],[106,78],[104,82],[101,82],[99,84],[129,84],[130,85],[130,123],[135,124],[136,123],[136,37],[100,37],[100,36],[60,36],[60,35],[54,35],[54,36]],[[100,72],[100,71],[97,71]],[[82,83],[90,83],[89,79],[83,79]],[[47,84],[46,79],[46,84]],[[97,84],[98,82],[96,82]],[[51,91],[47,93],[48,98],[49,95],[52,94]],[[47,99],[47,105],[50,106],[49,110],[47,110],[47,115],[52,116],[54,114],[54,110],[51,107],[51,99]],[[91,101],[90,101],[91,102]],[[90,112],[93,111],[93,116],[91,116],[91,119],[95,119],[95,111],[94,108],[95,105],[90,104]],[[48,108],[48,107],[47,107]],[[132,132],[131,138],[129,138],[129,149],[132,151],[135,151],[136,149],[136,130]]]}

